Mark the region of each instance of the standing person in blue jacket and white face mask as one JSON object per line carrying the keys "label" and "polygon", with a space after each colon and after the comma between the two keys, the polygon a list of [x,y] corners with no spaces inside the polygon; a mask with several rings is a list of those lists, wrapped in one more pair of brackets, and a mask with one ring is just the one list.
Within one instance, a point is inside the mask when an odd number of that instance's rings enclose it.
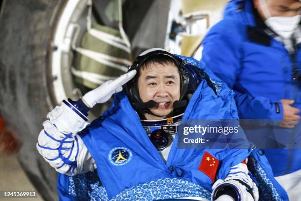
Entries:
{"label": "standing person in blue jacket and white face mask", "polygon": [[[300,0],[232,0],[200,48],[201,62],[234,90],[240,119],[279,120],[277,132],[296,140],[301,136],[300,24]],[[274,176],[290,199],[298,200],[301,149],[274,148],[279,149],[265,150]]]}

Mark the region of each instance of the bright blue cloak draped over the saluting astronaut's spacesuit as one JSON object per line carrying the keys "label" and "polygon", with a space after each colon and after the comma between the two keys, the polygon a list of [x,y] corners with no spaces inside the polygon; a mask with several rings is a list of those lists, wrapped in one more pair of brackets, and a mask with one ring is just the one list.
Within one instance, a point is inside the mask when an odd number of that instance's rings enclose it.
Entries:
{"label": "bright blue cloak draped over the saluting astronaut's spacesuit", "polygon": [[[200,62],[182,58],[186,63],[204,69]],[[182,119],[237,119],[232,90],[210,70],[204,70],[210,76],[215,92],[208,86],[207,81],[203,80],[190,99]],[[163,200],[186,196],[210,199],[212,180],[198,170],[205,151],[220,162],[216,179],[224,179],[230,167],[241,163],[252,152],[251,149],[178,149],[176,136],[168,160],[164,163],[124,92],[116,94],[110,110],[94,120],[80,135],[95,160],[97,175],[102,182],[102,186],[99,183],[95,185],[95,182],[92,182],[93,185],[86,182],[82,186],[97,186],[102,192],[105,189],[105,197],[114,200]],[[122,166],[114,164],[111,160],[112,153],[116,150],[127,153],[127,162]],[[274,180],[265,157],[255,150],[251,156],[254,159],[251,169],[253,168],[254,176],[258,177],[257,182],[263,185],[259,186],[262,197],[287,200],[285,191]],[[252,163],[252,159],[250,161]],[[262,169],[264,171],[261,171]],[[181,173],[184,174],[179,176]],[[75,192],[81,185],[75,187],[75,181],[83,178],[86,177],[80,175],[68,179],[60,174],[58,189],[61,198],[72,200],[70,195],[78,196],[80,193]],[[65,193],[66,191],[69,194]],[[92,192],[95,193],[96,190]]]}

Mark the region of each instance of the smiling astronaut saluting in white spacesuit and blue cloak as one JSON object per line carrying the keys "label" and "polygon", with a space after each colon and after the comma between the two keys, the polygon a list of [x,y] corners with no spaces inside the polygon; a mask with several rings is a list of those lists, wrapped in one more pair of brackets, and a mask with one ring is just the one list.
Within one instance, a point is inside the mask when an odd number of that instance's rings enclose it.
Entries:
{"label": "smiling astronaut saluting in white spacesuit and blue cloak", "polygon": [[[114,93],[85,127],[89,109]],[[118,79],[63,100],[37,149],[60,172],[61,200],[287,200],[256,149],[177,147],[185,119],[238,119],[232,93],[197,60],[153,48]]]}

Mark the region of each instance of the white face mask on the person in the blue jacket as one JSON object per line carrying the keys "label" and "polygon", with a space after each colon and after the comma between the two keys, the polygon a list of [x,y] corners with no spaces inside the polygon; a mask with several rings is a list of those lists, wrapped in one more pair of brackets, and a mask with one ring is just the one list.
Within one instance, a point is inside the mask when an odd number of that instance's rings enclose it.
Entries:
{"label": "white face mask on the person in the blue jacket", "polygon": [[272,17],[266,0],[260,0],[259,2],[265,17],[267,18],[265,21],[266,25],[282,38],[290,38],[299,27],[301,15],[296,15],[293,17]]}

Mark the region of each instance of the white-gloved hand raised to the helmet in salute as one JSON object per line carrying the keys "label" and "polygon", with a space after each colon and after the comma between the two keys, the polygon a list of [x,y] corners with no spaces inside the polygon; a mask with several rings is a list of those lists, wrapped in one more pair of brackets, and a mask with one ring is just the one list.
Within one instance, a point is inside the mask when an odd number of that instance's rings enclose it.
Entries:
{"label": "white-gloved hand raised to the helmet in salute", "polygon": [[122,91],[122,85],[131,80],[136,73],[136,70],[131,70],[121,75],[116,80],[106,81],[96,89],[85,94],[83,96],[83,102],[91,108],[97,103],[108,101],[114,93]]}

